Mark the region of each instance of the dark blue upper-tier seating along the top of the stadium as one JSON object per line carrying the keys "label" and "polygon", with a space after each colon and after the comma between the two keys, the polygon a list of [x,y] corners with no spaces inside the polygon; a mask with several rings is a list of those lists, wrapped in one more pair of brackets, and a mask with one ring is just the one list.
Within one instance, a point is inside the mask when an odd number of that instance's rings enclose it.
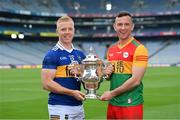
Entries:
{"label": "dark blue upper-tier seating along the top of the stadium", "polygon": [[[89,4],[93,3],[93,4]],[[106,11],[106,3],[112,4],[112,10]],[[11,7],[9,7],[11,6]],[[180,10],[178,0],[1,0],[3,11],[30,11],[32,13],[81,13],[104,14],[128,10],[132,13],[161,13]],[[152,9],[153,7],[153,9]]]}

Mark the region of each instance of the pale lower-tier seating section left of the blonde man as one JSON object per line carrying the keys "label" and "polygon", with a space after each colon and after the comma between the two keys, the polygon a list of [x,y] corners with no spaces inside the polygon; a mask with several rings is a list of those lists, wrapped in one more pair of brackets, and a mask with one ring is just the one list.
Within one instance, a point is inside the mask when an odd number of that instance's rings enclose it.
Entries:
{"label": "pale lower-tier seating section left of the blonde man", "polygon": [[52,46],[47,42],[3,41],[0,44],[0,64],[41,64]]}

